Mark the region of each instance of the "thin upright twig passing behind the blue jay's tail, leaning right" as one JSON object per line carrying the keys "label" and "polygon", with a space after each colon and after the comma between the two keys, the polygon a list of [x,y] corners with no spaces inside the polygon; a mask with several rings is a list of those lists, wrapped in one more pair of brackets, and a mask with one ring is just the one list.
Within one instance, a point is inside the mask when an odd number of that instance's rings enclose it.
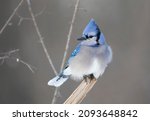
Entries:
{"label": "thin upright twig passing behind the blue jay's tail, leaning right", "polygon": [[[68,52],[68,49],[69,49],[69,43],[70,43],[70,38],[71,38],[71,34],[72,34],[73,24],[74,24],[77,9],[78,9],[78,6],[79,6],[79,1],[80,0],[76,1],[75,7],[74,7],[74,12],[73,12],[73,16],[72,16],[72,20],[71,20],[71,24],[70,24],[70,28],[69,28],[69,33],[68,33],[68,36],[67,36],[67,43],[66,43],[66,47],[65,47],[65,52],[64,52],[60,72],[62,71],[62,69],[64,67],[64,64],[65,64],[67,52]],[[52,104],[56,103],[56,100],[57,100],[57,97],[58,97],[59,93],[60,93],[59,92],[59,87],[56,87],[55,92],[54,92],[54,96],[53,96],[53,99],[52,99]]]}

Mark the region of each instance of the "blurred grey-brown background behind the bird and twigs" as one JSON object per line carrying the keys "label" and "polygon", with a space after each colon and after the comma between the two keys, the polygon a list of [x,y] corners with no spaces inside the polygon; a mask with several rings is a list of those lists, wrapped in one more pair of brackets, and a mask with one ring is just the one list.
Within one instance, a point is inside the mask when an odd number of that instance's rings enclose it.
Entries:
{"label": "blurred grey-brown background behind the bird and twigs", "polygon": [[[0,30],[19,2],[0,0]],[[44,43],[59,72],[76,0],[31,3]],[[101,27],[113,50],[112,63],[82,103],[150,103],[150,1],[80,0],[78,7],[67,57],[91,18]],[[24,1],[0,34],[0,103],[51,103],[55,88],[47,82],[55,74],[39,41]],[[13,52],[16,49],[19,51]],[[16,58],[32,65],[34,73]],[[56,103],[63,103],[79,84],[68,80],[61,87],[61,97]]]}

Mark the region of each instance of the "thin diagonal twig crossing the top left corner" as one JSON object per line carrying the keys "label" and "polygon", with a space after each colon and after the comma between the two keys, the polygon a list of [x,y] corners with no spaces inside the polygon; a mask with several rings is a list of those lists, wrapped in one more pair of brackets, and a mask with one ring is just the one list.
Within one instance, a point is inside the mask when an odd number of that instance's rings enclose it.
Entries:
{"label": "thin diagonal twig crossing the top left corner", "polygon": [[6,23],[4,24],[4,26],[1,28],[0,34],[2,34],[2,32],[4,31],[4,29],[7,27],[7,25],[9,25],[9,22],[11,21],[11,19],[13,18],[13,16],[16,14],[17,10],[19,9],[19,7],[23,3],[23,1],[24,0],[21,0],[20,3],[18,4],[18,6],[14,9],[13,13],[10,15],[10,17],[8,18],[8,20],[6,21]]}

